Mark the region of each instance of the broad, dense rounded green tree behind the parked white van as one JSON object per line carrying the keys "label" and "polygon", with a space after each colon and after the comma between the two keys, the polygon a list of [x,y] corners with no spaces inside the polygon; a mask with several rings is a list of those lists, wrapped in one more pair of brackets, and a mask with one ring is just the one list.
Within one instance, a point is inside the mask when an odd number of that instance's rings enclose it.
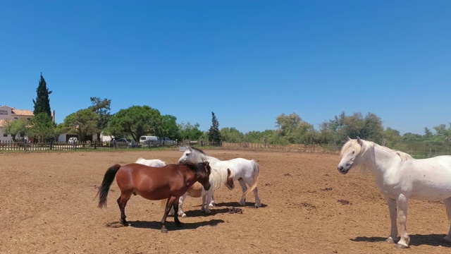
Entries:
{"label": "broad, dense rounded green tree behind the parked white van", "polygon": [[142,135],[161,136],[162,123],[159,110],[149,106],[132,106],[111,116],[106,133],[116,138],[130,135],[138,141]]}

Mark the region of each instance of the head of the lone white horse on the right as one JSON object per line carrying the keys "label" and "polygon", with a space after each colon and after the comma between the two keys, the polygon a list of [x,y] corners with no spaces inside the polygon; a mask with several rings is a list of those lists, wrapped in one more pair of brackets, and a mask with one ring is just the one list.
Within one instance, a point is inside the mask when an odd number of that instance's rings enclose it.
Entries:
{"label": "head of the lone white horse on the right", "polygon": [[341,174],[346,174],[352,167],[362,162],[362,157],[359,155],[361,155],[364,140],[359,137],[355,140],[349,137],[347,139],[347,143],[341,149],[341,160],[337,167]]}

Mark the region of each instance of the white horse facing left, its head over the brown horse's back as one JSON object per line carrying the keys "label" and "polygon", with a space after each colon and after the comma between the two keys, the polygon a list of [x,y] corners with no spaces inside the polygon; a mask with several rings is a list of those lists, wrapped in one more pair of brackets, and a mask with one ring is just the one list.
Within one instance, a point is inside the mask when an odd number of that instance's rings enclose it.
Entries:
{"label": "white horse facing left, its head over the brown horse's back", "polygon": [[[218,171],[226,172],[227,169],[230,169],[233,173],[233,180],[238,180],[240,182],[240,186],[242,189],[242,197],[240,200],[240,205],[246,205],[246,195],[250,191],[254,191],[255,196],[255,207],[260,207],[261,202],[259,198],[259,193],[257,191],[257,182],[259,180],[260,167],[257,162],[253,159],[243,159],[243,158],[235,158],[229,159],[226,161],[221,161],[216,159],[215,157],[206,155],[206,153],[196,147],[187,146],[187,149],[183,153],[182,157],[178,159],[180,163],[186,162],[209,162],[211,171],[214,169]],[[249,186],[247,189],[246,184]],[[211,193],[213,195],[213,193]],[[213,200],[213,196],[208,197],[207,200]],[[179,202],[180,203],[180,202]]]}

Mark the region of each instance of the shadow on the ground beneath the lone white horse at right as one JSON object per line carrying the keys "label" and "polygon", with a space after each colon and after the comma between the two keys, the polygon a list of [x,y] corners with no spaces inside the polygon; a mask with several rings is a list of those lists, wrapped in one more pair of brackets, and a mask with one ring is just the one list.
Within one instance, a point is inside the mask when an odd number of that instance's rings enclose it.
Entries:
{"label": "shadow on the ground beneath the lone white horse at right", "polygon": [[[443,246],[443,247],[451,247],[451,243],[443,241],[443,237],[445,237],[445,234],[427,234],[427,235],[421,235],[421,234],[413,234],[410,236],[410,246]],[[357,236],[354,239],[350,239],[351,241],[356,242],[378,242],[378,241],[385,241],[385,237],[366,237],[366,236]]]}

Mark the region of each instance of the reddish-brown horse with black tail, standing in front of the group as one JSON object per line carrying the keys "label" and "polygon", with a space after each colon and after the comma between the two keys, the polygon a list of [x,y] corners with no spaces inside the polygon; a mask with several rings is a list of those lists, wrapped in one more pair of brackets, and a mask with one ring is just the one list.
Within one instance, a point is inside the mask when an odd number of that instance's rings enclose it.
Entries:
{"label": "reddish-brown horse with black tail, standing in front of the group", "polygon": [[126,165],[116,164],[106,170],[97,195],[99,195],[99,208],[106,207],[106,198],[116,176],[116,182],[121,189],[118,198],[121,210],[121,224],[128,226],[125,220],[125,205],[132,193],[141,195],[148,200],[168,199],[161,219],[161,232],[167,233],[166,217],[171,207],[174,207],[174,221],[177,226],[182,226],[178,219],[178,200],[181,195],[195,183],[199,182],[206,190],[210,188],[211,168],[209,162],[169,164],[161,170],[159,167],[148,167],[142,164],[131,163]]}

